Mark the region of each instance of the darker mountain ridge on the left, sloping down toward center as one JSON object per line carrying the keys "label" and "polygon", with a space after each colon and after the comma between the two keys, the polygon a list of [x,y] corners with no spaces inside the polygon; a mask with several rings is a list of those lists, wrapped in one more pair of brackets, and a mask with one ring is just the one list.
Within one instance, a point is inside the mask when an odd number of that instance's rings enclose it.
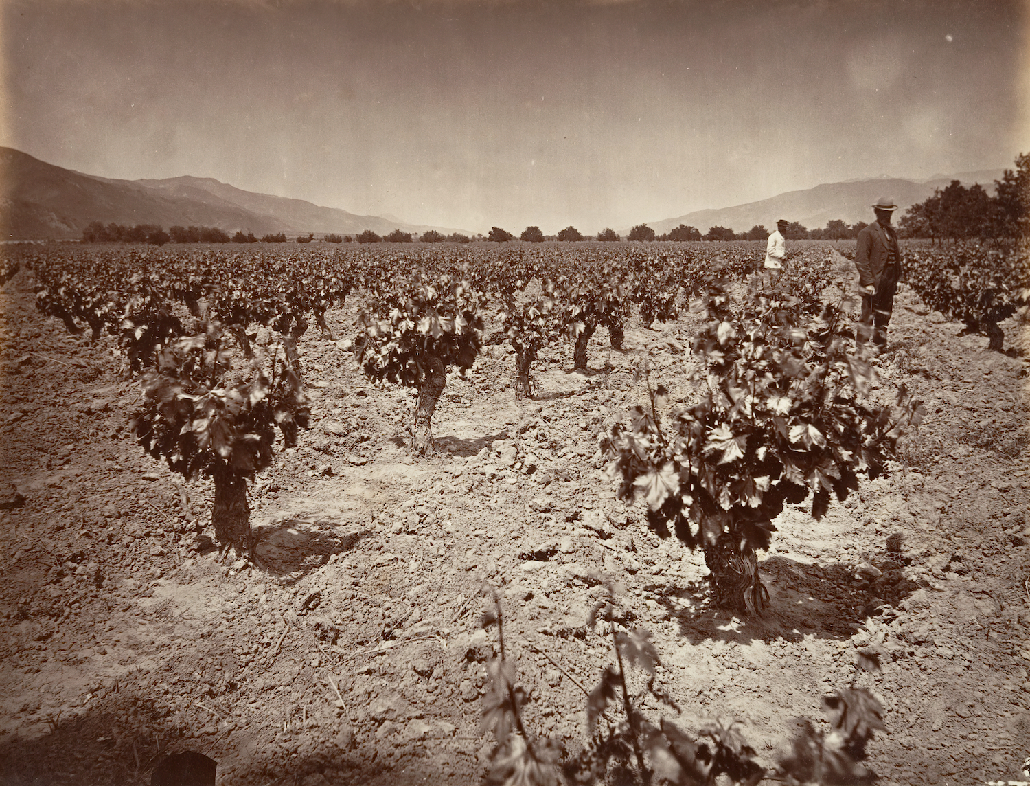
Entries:
{"label": "darker mountain ridge on the left, sloping down toward center", "polygon": [[363,230],[387,234],[394,229],[419,234],[431,229],[460,232],[252,194],[210,177],[116,180],[87,175],[0,147],[0,239],[79,238],[91,221],[158,224],[166,230],[176,225],[217,227],[230,234],[242,230],[259,237]]}

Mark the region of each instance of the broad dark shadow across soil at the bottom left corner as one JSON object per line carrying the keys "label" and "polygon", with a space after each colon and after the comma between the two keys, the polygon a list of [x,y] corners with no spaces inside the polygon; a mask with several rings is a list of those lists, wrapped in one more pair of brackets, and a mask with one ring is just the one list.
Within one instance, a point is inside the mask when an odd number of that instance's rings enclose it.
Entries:
{"label": "broad dark shadow across soil at the bottom left corner", "polygon": [[[132,694],[114,694],[94,704],[81,715],[53,722],[50,730],[39,737],[0,739],[0,784],[137,786],[150,783],[153,768],[168,754],[182,751],[214,759],[221,783],[407,786],[447,780],[436,762],[424,758],[402,754],[382,760],[374,739],[343,751],[333,742],[318,744],[307,734],[291,743],[276,739],[278,734],[268,728],[229,730],[203,725],[207,719],[198,720],[195,727],[172,728],[167,708]],[[301,750],[291,755],[298,739],[303,741]]]}

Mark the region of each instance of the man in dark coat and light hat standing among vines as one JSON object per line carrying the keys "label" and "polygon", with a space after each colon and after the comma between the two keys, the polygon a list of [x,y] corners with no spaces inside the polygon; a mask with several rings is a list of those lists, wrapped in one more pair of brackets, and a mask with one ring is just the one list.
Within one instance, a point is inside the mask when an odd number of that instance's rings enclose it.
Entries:
{"label": "man in dark coat and light hat standing among vines", "polygon": [[887,347],[887,326],[894,310],[894,295],[901,278],[901,251],[898,236],[891,226],[891,216],[897,210],[894,200],[881,197],[872,206],[877,220],[858,233],[855,267],[858,269],[858,286],[862,292],[863,328],[865,338],[872,334],[872,341],[881,349]]}

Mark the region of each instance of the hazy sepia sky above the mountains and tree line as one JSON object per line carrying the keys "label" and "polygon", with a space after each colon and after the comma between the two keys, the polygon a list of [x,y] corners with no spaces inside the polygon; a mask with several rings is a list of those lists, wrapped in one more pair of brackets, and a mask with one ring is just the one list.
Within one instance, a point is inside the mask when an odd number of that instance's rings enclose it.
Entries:
{"label": "hazy sepia sky above the mountains and tree line", "polygon": [[1010,2],[0,0],[0,144],[585,233],[1030,150]]}

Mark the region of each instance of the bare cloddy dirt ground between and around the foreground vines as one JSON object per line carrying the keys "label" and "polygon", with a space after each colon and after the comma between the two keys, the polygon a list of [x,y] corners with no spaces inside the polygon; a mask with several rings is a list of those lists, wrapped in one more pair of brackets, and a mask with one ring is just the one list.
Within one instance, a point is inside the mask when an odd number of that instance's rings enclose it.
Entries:
{"label": "bare cloddy dirt ground between and around the foreground vines", "polygon": [[[645,702],[654,717],[735,719],[771,766],[821,693],[855,681],[887,707],[869,762],[884,783],[1022,777],[1030,419],[1015,324],[1017,351],[987,352],[902,291],[878,395],[904,383],[927,403],[904,465],[819,523],[785,512],[761,559],[771,611],[736,619],[708,605],[699,554],[615,499],[596,449],[644,401],[648,352],[653,379],[689,396],[696,317],[634,319],[625,352],[598,332],[587,375],[565,372],[570,346],[545,351],[528,402],[512,357],[486,351],[469,380],[449,375],[438,453],[418,462],[408,391],[368,384],[309,331],[313,428],[250,489],[256,569],[217,559],[210,487],[134,444],[139,395],[108,339],[38,314],[30,271],[0,298],[2,784],[149,783],[184,749],[215,758],[224,784],[475,783],[491,746],[484,585],[533,689],[528,724],[575,750],[580,686],[612,661],[587,625],[598,573],[662,654],[682,714]],[[353,316],[331,313],[337,339]],[[885,668],[856,674],[870,642]]]}

